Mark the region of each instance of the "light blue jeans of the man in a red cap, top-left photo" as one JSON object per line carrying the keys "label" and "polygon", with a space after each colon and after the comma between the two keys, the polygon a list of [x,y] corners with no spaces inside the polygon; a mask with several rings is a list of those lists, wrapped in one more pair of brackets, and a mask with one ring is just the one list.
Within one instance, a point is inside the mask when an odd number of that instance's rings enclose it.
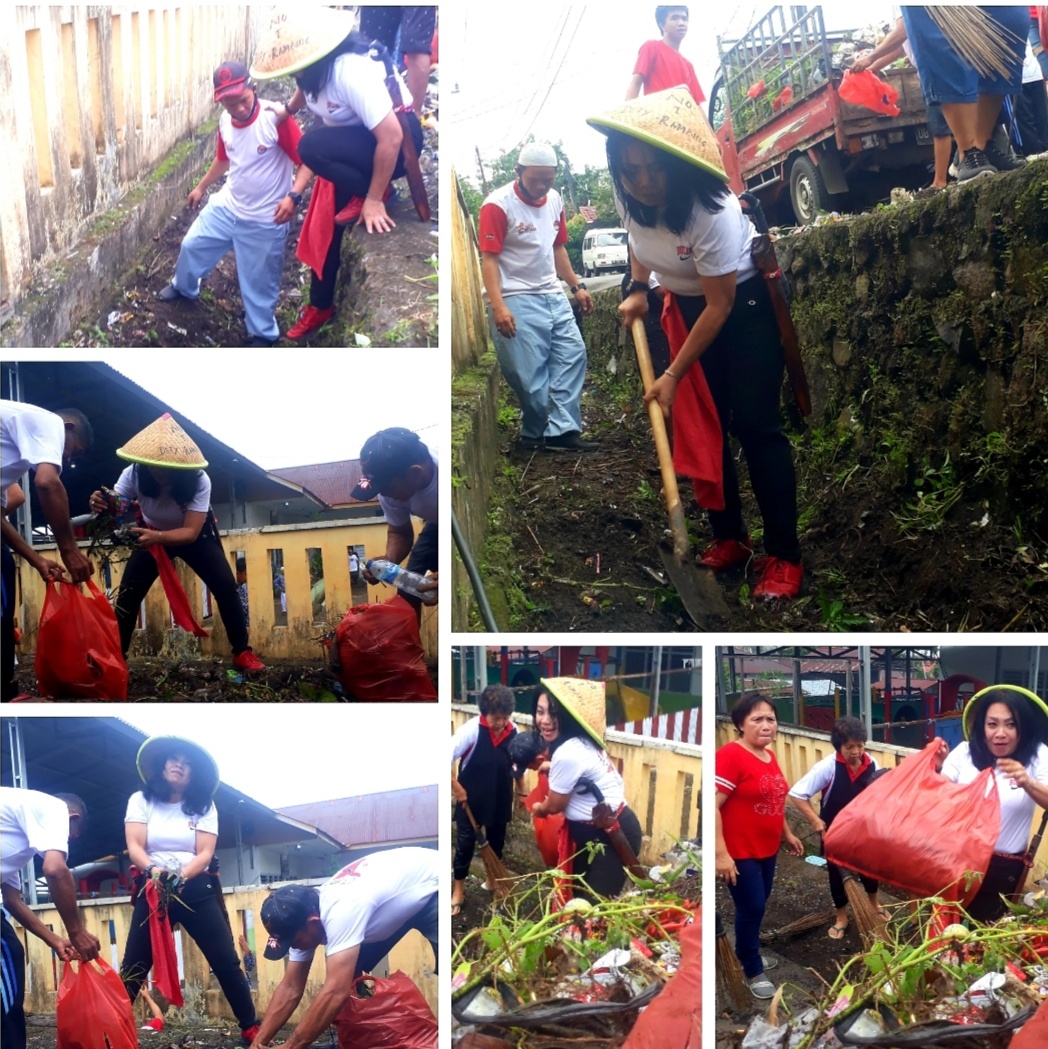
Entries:
{"label": "light blue jeans of the man in a red cap, top-left photo", "polygon": [[200,294],[206,277],[232,248],[243,300],[248,334],[271,341],[280,337],[276,305],[284,264],[287,223],[248,222],[209,201],[181,242],[171,283],[187,299]]}

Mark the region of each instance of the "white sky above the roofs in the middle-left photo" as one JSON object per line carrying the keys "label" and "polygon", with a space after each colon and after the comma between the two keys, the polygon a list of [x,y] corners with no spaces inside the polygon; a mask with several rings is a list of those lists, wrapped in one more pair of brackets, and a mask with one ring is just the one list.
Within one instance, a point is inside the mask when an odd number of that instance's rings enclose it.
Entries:
{"label": "white sky above the roofs in the middle-left photo", "polygon": [[266,470],[357,458],[387,426],[444,443],[447,397],[433,391],[448,389],[447,350],[191,354],[192,366],[157,350],[112,350],[105,361]]}

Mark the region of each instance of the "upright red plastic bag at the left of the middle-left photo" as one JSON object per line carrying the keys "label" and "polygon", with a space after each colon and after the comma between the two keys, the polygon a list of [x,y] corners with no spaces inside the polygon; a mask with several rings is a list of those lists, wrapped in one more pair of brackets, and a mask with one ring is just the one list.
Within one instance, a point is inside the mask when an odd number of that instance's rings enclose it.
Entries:
{"label": "upright red plastic bag at the left of the middle-left photo", "polygon": [[54,700],[126,700],[127,664],[105,594],[90,580],[48,583],[37,635],[37,683]]}

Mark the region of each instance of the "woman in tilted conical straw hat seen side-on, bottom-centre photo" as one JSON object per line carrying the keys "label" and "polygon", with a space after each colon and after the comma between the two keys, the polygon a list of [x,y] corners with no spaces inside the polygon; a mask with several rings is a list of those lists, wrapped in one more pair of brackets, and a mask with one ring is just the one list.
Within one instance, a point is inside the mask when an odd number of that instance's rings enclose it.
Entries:
{"label": "woman in tilted conical straw hat seen side-on, bottom-centre photo", "polygon": [[[532,807],[533,816],[562,812],[560,868],[581,876],[577,896],[615,896],[626,881],[625,869],[606,830],[594,825],[600,798],[580,780],[593,784],[618,819],[634,855],[640,851],[641,828],[625,801],[625,785],[604,749],[604,683],[580,678],[543,678],[534,706],[535,728],[550,750],[550,793]],[[604,848],[592,856],[586,844]],[[569,858],[574,855],[574,860]],[[569,869],[570,868],[570,869]],[[589,890],[586,890],[589,886]]]}

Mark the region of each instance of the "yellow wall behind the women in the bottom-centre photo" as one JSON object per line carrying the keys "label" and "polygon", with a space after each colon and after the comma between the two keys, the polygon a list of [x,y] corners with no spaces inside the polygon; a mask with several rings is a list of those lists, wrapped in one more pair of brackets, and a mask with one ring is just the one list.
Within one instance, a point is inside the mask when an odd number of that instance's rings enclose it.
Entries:
{"label": "yellow wall behind the women in the bottom-centre photo", "polygon": [[[476,716],[475,707],[455,705],[451,711],[452,732]],[[531,718],[514,715],[521,728],[531,728]],[[649,740],[611,730],[607,753],[618,767],[626,788],[626,804],[637,814],[644,839],[642,863],[658,863],[660,856],[683,838],[699,834],[699,794],[702,783],[702,747],[688,743]],[[535,786],[529,772],[521,790]]]}

